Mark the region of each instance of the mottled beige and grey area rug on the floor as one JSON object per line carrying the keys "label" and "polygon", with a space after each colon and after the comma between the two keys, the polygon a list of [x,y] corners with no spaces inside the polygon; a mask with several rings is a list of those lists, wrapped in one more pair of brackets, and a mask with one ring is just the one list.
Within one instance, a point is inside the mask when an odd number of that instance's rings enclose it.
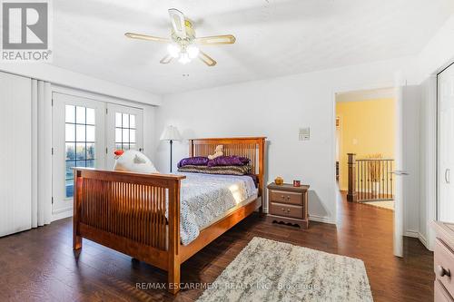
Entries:
{"label": "mottled beige and grey area rug on the floor", "polygon": [[372,301],[360,259],[255,237],[197,301]]}

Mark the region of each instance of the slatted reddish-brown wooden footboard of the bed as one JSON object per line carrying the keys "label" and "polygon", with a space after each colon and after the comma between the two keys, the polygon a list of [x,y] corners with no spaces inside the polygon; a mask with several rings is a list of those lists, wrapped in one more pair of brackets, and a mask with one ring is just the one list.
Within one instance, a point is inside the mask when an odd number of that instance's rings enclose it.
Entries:
{"label": "slatted reddish-brown wooden footboard of the bed", "polygon": [[90,239],[167,270],[169,284],[179,284],[184,178],[75,168],[74,249]]}

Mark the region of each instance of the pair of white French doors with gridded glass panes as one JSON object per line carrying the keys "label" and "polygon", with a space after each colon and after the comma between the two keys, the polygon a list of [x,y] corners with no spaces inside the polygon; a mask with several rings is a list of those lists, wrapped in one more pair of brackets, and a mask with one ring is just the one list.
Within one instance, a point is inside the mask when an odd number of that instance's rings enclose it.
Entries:
{"label": "pair of white French doors with gridded glass panes", "polygon": [[73,213],[73,167],[112,169],[115,150],[143,151],[143,110],[53,93],[52,213]]}

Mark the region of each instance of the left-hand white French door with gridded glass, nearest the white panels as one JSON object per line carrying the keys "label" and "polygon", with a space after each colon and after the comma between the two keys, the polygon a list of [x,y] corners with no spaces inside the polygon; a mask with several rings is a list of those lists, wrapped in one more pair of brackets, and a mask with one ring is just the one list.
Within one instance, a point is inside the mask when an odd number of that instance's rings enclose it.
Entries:
{"label": "left-hand white French door with gridded glass, nearest the white panels", "polygon": [[72,215],[73,167],[104,169],[105,103],[64,93],[53,94],[54,215]]}

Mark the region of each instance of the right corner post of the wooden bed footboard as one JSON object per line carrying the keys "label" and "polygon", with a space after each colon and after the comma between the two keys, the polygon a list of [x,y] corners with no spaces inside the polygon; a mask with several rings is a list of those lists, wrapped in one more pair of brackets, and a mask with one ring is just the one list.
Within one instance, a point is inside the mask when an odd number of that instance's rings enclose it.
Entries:
{"label": "right corner post of the wooden bed footboard", "polygon": [[169,263],[168,290],[176,294],[180,290],[180,186],[181,180],[173,182],[169,189]]}

